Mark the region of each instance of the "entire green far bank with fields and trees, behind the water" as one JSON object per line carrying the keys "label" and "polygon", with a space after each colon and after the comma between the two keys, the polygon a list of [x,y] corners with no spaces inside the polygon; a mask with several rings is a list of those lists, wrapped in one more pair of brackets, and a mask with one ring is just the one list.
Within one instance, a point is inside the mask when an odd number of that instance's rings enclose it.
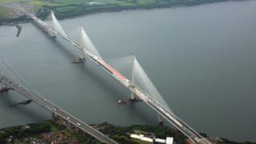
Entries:
{"label": "entire green far bank with fields and trees, behind the water", "polygon": [[[151,9],[170,6],[194,6],[209,2],[222,2],[230,0],[0,0],[3,3],[18,3],[28,11],[35,12],[39,18],[46,18],[50,10],[57,13],[58,18],[70,18],[82,14],[91,14],[105,11],[118,11],[130,9]],[[234,0],[235,1],[235,0]],[[242,0],[241,0],[242,1]],[[18,22],[26,20],[16,18],[12,10],[0,7],[1,22]],[[8,21],[5,19],[9,18]]]}

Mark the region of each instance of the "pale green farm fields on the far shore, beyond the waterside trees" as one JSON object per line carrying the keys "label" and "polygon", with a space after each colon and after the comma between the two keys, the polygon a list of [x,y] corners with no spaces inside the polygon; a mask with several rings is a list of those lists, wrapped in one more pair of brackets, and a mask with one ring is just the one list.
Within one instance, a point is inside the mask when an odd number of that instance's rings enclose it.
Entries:
{"label": "pale green farm fields on the far shore, beyond the waterside trees", "polygon": [[[92,9],[110,9],[111,7],[129,7],[129,6],[146,6],[154,5],[159,3],[165,3],[167,0],[102,0],[102,1],[92,1],[92,0],[0,0],[0,5],[2,3],[19,3],[23,6],[33,6],[33,10],[38,11],[44,7],[50,7],[50,9],[59,12],[69,12],[73,13],[77,10],[77,6],[86,8],[86,11],[92,11]],[[92,4],[90,2],[101,2],[101,4]],[[57,7],[57,8],[56,8]],[[93,10],[94,11],[94,10]],[[1,7],[0,18],[12,16],[13,11],[9,8]],[[74,12],[75,14],[82,13],[82,11]]]}

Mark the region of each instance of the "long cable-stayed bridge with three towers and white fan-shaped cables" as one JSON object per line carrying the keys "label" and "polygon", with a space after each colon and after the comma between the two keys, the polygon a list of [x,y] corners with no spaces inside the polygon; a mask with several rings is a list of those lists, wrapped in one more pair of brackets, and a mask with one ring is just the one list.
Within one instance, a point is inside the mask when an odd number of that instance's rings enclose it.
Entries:
{"label": "long cable-stayed bridge with three towers and white fan-shaped cables", "polygon": [[[128,78],[126,78],[126,76],[121,74],[118,70],[114,69],[113,66],[110,66],[109,63],[103,60],[83,28],[81,28],[81,43],[78,44],[78,42],[70,39],[65,34],[62,26],[58,22],[58,19],[54,16],[53,12],[51,12],[53,26],[50,26],[46,22],[43,22],[41,19],[37,18],[34,14],[31,14],[26,10],[22,9],[22,7],[18,6],[18,9],[22,10],[27,15],[27,17],[31,18],[38,27],[46,31],[47,34],[50,34],[52,38],[56,38],[57,36],[59,36],[60,38],[63,38],[66,42],[70,43],[70,45],[74,46],[74,48],[79,50],[81,52],[81,56],[80,58],[78,58],[78,60],[83,60],[83,55],[86,55],[86,57],[90,58],[93,62],[101,66],[103,70],[105,70],[108,74],[110,74],[112,77],[118,80],[118,82],[122,83],[123,86],[131,91],[131,100],[139,98],[143,102],[146,102],[146,104],[150,106],[153,110],[155,110],[161,118],[165,118],[167,122],[170,122],[170,124],[172,124],[175,128],[181,131],[182,134],[185,134],[187,138],[190,138],[192,142],[200,144],[210,143],[206,138],[203,138],[202,135],[198,134],[198,132],[193,130],[170,110],[168,105],[166,105],[166,102],[164,102],[164,100],[161,98],[161,95],[158,94],[158,91],[154,88],[153,83],[150,82],[150,79],[146,76],[144,70],[142,70],[142,67],[140,66],[136,58],[133,58],[132,80],[130,81]],[[134,71],[136,72],[136,68],[140,72],[141,76],[146,79],[144,80],[144,82],[149,83],[151,85],[151,89],[155,89],[152,93],[150,93],[150,90],[142,90],[134,82]],[[36,101],[38,101],[38,99],[36,99]]]}

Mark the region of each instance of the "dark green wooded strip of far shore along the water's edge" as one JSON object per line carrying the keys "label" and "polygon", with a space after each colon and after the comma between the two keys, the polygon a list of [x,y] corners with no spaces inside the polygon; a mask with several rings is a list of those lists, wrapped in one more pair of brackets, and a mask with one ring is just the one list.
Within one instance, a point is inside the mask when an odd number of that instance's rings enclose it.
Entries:
{"label": "dark green wooded strip of far shore along the water's edge", "polygon": [[[78,18],[85,15],[90,14],[101,14],[101,13],[110,13],[110,12],[120,12],[124,10],[154,10],[154,9],[164,9],[164,8],[177,8],[177,7],[184,7],[184,6],[200,6],[205,4],[212,4],[217,2],[242,2],[242,1],[249,1],[249,0],[212,0],[208,2],[187,2],[187,3],[176,3],[176,4],[155,4],[155,5],[142,5],[142,6],[82,6],[78,10],[71,10],[66,12],[61,12],[58,8],[63,8],[65,6],[42,6],[41,10],[38,10],[36,15],[38,18],[45,20],[46,17],[50,14],[50,10],[54,10],[56,17],[59,20],[62,19],[70,19],[70,18]],[[66,6],[68,7],[68,6]],[[17,24],[17,23],[28,23],[31,20],[26,18],[25,15],[21,15],[16,18],[0,18],[0,26],[8,26],[10,24]]]}

